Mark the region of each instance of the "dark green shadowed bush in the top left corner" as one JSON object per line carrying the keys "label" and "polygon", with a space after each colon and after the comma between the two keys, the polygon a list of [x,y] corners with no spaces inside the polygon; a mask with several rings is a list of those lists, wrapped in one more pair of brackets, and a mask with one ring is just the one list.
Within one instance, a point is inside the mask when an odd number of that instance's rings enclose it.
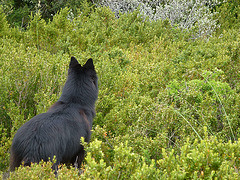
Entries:
{"label": "dark green shadowed bush in the top left corner", "polygon": [[2,0],[0,5],[3,6],[7,19],[12,26],[26,28],[31,18],[31,14],[39,13],[46,21],[52,20],[55,14],[61,9],[68,7],[71,9],[69,16],[77,16],[79,9],[84,9],[85,4],[91,5],[91,0],[62,0],[62,1],[48,1],[48,0],[17,0],[9,1]]}

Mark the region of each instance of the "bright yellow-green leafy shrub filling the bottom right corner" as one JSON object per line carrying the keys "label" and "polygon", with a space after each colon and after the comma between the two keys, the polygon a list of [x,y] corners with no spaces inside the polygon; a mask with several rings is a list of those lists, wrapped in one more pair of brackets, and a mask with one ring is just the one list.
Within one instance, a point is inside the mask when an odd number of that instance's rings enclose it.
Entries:
{"label": "bright yellow-green leafy shrub filling the bottom right corner", "polygon": [[206,137],[200,142],[195,140],[193,144],[187,141],[177,155],[173,150],[163,150],[163,159],[157,163],[166,179],[228,179],[229,174],[232,179],[237,179],[238,147],[239,142],[225,144]]}

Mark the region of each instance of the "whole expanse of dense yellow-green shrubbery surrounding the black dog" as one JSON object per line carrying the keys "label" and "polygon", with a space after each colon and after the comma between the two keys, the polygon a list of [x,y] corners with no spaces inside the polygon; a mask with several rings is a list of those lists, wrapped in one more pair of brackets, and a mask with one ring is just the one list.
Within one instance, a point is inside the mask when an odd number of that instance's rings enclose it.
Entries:
{"label": "whole expanse of dense yellow-green shrubbery surrounding the black dog", "polygon": [[[0,6],[3,177],[54,178],[51,162],[9,175],[9,148],[17,129],[58,99],[76,56],[81,63],[93,58],[100,89],[81,179],[239,178],[238,1],[211,7],[219,29],[198,38],[197,23],[150,21],[139,9],[116,17],[87,1],[78,15],[64,8],[48,20],[36,11],[22,30],[6,7]],[[62,165],[58,178],[79,174]]]}

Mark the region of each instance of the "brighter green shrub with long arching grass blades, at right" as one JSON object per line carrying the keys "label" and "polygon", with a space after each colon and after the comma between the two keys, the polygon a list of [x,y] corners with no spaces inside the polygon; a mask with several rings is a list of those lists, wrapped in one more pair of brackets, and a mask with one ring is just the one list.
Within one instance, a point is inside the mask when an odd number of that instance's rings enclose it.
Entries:
{"label": "brighter green shrub with long arching grass blades, at right", "polygon": [[[238,123],[235,124],[233,113],[230,112],[232,107],[238,108],[238,94],[227,83],[207,79],[214,76],[214,73],[208,73],[209,76],[203,80],[170,82],[168,95],[160,95],[159,101],[164,102],[166,99],[165,103],[180,114],[182,122],[185,124],[184,120],[187,121],[190,127],[186,134],[192,131],[199,135],[199,131],[203,132],[201,127],[207,126],[213,135],[235,140],[236,134],[233,132],[239,132]],[[182,126],[181,123],[178,125]],[[187,129],[185,127],[185,131]]]}

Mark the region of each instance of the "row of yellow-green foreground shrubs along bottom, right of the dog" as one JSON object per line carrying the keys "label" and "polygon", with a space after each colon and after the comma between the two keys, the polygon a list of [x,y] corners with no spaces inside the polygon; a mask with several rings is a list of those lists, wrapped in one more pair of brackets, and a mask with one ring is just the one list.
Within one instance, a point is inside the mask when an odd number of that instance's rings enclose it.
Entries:
{"label": "row of yellow-green foreground shrubs along bottom, right of the dog", "polygon": [[[143,156],[132,151],[128,141],[112,147],[111,165],[106,162],[104,143],[94,140],[87,147],[86,165],[81,178],[87,179],[222,179],[238,178],[239,142],[223,143],[208,138],[205,128],[203,140],[189,139],[177,153],[162,149],[162,158],[148,164]],[[157,168],[158,167],[158,168]],[[231,174],[231,176],[229,176]]]}

